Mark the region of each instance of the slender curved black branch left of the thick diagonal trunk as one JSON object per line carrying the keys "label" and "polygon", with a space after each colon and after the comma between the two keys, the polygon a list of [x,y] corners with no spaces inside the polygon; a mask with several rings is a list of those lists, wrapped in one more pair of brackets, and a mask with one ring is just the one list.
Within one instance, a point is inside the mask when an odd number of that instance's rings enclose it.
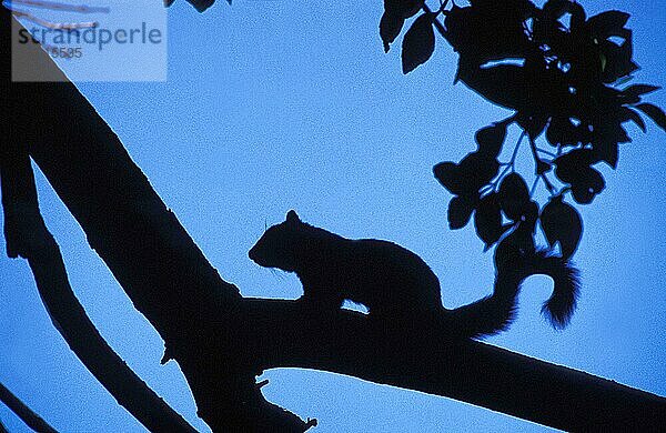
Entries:
{"label": "slender curved black branch left of the thick diagonal trunk", "polygon": [[195,430],[107,344],[72,291],[58,243],[39,212],[30,159],[10,137],[0,158],[4,238],[11,258],[28,260],[53,325],[98,381],[151,431]]}

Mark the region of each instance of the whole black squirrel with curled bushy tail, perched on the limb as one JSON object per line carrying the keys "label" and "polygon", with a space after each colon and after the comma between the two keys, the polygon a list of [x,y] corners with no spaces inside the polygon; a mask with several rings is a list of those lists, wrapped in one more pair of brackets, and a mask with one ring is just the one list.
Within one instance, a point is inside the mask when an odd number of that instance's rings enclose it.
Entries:
{"label": "whole black squirrel with curled bushy tail, perched on the limb", "polygon": [[304,223],[293,210],[264,232],[249,255],[261,266],[295,273],[303,284],[301,302],[312,308],[340,309],[350,300],[365,305],[373,318],[437,314],[461,338],[505,330],[515,315],[521,282],[537,273],[554,281],[542,311],[554,328],[564,328],[579,284],[567,260],[546,250],[515,251],[500,265],[493,294],[448,310],[442,305],[440,280],[415,253],[389,241],[343,238]]}

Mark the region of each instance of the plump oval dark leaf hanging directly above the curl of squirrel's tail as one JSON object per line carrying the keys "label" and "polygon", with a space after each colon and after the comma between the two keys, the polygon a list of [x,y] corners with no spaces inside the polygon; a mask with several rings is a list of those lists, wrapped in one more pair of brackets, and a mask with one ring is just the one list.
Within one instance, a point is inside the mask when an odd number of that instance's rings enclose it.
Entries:
{"label": "plump oval dark leaf hanging directly above the curl of squirrel's tail", "polygon": [[583,221],[578,211],[563,201],[562,195],[551,199],[541,213],[541,225],[551,246],[559,242],[564,259],[569,259],[581,242]]}

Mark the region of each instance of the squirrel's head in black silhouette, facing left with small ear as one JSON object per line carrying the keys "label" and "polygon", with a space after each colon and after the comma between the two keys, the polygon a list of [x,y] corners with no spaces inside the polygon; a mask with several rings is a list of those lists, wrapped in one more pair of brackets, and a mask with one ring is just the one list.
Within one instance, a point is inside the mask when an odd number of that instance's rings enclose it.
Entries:
{"label": "squirrel's head in black silhouette, facing left with small ear", "polygon": [[303,222],[295,211],[289,211],[286,220],[270,226],[259,241],[252,246],[248,255],[264,268],[278,268],[283,271],[294,272],[296,263],[297,243]]}

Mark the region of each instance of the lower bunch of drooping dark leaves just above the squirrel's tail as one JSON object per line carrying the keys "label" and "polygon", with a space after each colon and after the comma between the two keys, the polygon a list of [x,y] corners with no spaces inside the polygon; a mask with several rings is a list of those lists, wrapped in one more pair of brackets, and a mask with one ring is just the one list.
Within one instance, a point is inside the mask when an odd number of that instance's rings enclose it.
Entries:
{"label": "lower bunch of drooping dark leaves just above the squirrel's tail", "polygon": [[[538,221],[551,246],[559,244],[562,256],[568,259],[581,240],[581,216],[564,201],[567,188],[553,194],[539,212],[538,203],[532,198],[534,187],[531,191],[523,177],[513,169],[517,152],[514,151],[509,162],[497,161],[509,122],[511,119],[478,130],[478,149],[460,163],[435,165],[435,177],[455,195],[448,204],[450,226],[455,230],[467,225],[474,213],[476,233],[486,250],[501,239],[504,245],[534,250]],[[546,165],[542,170],[546,170]],[[547,178],[544,180],[548,182],[547,188],[554,190]]]}

